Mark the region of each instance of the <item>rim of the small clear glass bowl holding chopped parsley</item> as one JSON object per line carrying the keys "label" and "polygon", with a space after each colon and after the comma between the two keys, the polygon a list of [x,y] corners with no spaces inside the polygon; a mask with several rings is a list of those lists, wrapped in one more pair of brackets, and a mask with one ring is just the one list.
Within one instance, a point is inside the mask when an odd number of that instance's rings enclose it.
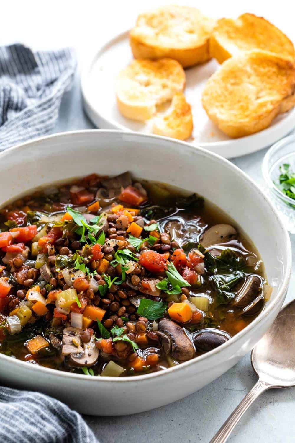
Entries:
{"label": "rim of the small clear glass bowl holding chopped parsley", "polygon": [[[289,203],[290,205],[294,206],[295,200],[293,198],[288,197],[278,187],[276,187],[275,183],[273,183],[269,175],[269,162],[270,159],[272,158],[272,155],[280,148],[286,146],[289,142],[292,141],[295,142],[295,134],[291,134],[287,137],[284,137],[281,140],[277,141],[275,144],[273,144],[272,147],[268,149],[268,152],[264,155],[264,159],[262,160],[262,165],[261,165],[261,171],[265,182],[267,183],[269,189],[273,192],[273,194],[275,194],[276,197],[280,198],[280,200],[283,200],[284,203],[286,203],[286,205],[287,203]],[[288,207],[291,209],[289,205]]]}

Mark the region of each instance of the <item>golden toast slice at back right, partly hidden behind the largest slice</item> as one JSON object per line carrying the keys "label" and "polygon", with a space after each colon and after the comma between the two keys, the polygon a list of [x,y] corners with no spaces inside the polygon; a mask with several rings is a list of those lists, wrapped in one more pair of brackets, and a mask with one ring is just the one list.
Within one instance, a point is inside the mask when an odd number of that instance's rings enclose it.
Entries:
{"label": "golden toast slice at back right, partly hidden behind the largest slice", "polygon": [[220,19],[210,37],[210,55],[223,63],[239,51],[263,49],[295,58],[294,46],[280,29],[263,17],[243,14],[238,19]]}

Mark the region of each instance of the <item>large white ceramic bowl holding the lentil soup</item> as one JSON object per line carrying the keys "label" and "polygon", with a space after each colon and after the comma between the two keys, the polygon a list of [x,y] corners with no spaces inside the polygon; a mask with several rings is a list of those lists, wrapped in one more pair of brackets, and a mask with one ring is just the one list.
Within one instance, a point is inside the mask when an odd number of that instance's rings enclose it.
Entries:
{"label": "large white ceramic bowl holding the lentil soup", "polygon": [[284,302],[291,274],[289,235],[271,202],[229,161],[157,136],[107,130],[66,132],[0,154],[0,205],[64,179],[131,171],[197,192],[222,208],[252,239],[274,287],[261,314],[228,342],[181,365],[143,376],[89,377],[0,354],[2,382],[46,392],[84,414],[124,415],[191,394],[235,365],[255,346]]}

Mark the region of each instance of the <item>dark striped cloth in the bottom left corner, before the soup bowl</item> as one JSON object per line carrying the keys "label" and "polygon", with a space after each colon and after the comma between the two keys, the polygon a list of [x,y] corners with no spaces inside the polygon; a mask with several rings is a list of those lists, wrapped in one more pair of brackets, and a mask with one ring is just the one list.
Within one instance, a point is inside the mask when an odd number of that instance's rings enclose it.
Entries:
{"label": "dark striped cloth in the bottom left corner, before the soup bowl", "polygon": [[82,417],[44,394],[0,388],[0,442],[97,443]]}

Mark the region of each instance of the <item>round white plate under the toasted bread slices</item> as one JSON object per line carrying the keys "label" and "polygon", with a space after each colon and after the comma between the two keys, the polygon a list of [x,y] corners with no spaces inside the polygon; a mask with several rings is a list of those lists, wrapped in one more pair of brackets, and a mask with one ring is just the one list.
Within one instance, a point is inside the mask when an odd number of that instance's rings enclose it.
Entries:
{"label": "round white plate under the toasted bread slices", "polygon": [[[132,61],[128,32],[118,35],[106,43],[84,69],[81,78],[84,108],[88,117],[98,128],[122,129],[126,131],[151,133],[152,119],[147,123],[129,120],[117,109],[115,99],[115,78],[119,71]],[[263,149],[295,127],[295,109],[280,114],[271,126],[239,139],[230,139],[207,117],[202,104],[202,90],[207,79],[218,69],[212,59],[200,66],[185,71],[185,96],[192,105],[194,131],[187,140],[194,146],[201,146],[226,158],[239,157]]]}

